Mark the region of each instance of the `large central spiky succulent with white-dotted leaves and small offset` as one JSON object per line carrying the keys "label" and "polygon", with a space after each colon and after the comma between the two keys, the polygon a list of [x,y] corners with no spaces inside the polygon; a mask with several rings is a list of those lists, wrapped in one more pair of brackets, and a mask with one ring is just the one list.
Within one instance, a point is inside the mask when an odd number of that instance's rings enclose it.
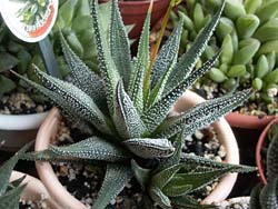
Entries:
{"label": "large central spiky succulent with white-dotted leaves and small offset", "polygon": [[[66,146],[51,146],[29,152],[24,159],[47,161],[105,161],[106,177],[92,208],[102,209],[132,177],[145,191],[145,208],[170,208],[172,205],[199,208],[190,193],[227,172],[248,172],[254,168],[219,163],[181,152],[185,137],[209,125],[244,102],[251,90],[200,103],[179,116],[168,117],[176,100],[196,79],[209,70],[220,53],[200,69],[193,66],[206,49],[224,4],[202,29],[191,49],[179,61],[178,49],[183,20],[161,48],[146,82],[149,67],[148,11],[138,54],[131,59],[127,31],[117,0],[111,4],[109,39],[103,36],[97,0],[91,16],[98,49],[97,74],[70,49],[61,33],[61,46],[71,71],[72,83],[34,68],[40,83],[18,74],[31,87],[60,107],[68,120],[82,126],[91,137]],[[146,86],[143,83],[147,83]],[[115,180],[117,179],[117,180]],[[201,208],[201,207],[200,207]]]}

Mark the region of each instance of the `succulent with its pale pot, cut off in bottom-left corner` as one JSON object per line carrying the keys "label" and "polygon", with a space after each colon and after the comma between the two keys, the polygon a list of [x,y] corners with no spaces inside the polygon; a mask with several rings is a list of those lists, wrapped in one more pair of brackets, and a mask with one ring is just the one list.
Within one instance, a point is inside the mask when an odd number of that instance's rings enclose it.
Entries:
{"label": "succulent with its pale pot, cut off in bottom-left corner", "polygon": [[0,207],[7,209],[18,208],[19,200],[21,199],[29,202],[43,201],[48,207],[56,209],[56,203],[50,199],[48,191],[40,180],[12,170],[19,158],[29,147],[30,143],[24,146],[17,155],[0,167]]}

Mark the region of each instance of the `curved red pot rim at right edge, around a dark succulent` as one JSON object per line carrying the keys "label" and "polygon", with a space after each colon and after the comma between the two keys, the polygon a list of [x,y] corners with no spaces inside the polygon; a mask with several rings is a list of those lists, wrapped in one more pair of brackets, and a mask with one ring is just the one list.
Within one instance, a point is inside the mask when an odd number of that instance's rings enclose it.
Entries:
{"label": "curved red pot rim at right edge, around a dark succulent", "polygon": [[265,146],[265,141],[267,139],[267,133],[268,133],[269,129],[271,128],[271,126],[275,123],[278,123],[278,117],[275,118],[271,122],[269,122],[268,126],[264,129],[264,131],[261,132],[261,135],[259,137],[257,147],[256,147],[256,165],[258,167],[259,178],[264,185],[267,185],[267,178],[266,178],[265,172],[264,172],[265,168],[261,165],[260,152],[261,152],[262,147]]}

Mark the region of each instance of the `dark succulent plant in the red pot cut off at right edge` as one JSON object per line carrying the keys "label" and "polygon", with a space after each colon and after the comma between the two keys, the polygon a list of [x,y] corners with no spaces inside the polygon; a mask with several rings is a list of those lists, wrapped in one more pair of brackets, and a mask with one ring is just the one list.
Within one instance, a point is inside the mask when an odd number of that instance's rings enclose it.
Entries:
{"label": "dark succulent plant in the red pot cut off at right edge", "polygon": [[250,199],[250,209],[278,208],[278,125],[269,131],[270,145],[267,151],[267,185],[257,185]]}

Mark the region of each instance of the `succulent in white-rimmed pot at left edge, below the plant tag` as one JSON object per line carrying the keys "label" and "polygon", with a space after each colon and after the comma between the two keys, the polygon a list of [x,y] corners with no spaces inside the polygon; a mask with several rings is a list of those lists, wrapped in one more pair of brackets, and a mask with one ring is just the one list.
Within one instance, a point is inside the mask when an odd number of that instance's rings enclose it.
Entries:
{"label": "succulent in white-rimmed pot at left edge, below the plant tag", "polygon": [[36,138],[38,128],[47,116],[47,106],[34,102],[30,97],[31,92],[24,90],[18,79],[7,72],[14,69],[30,76],[28,67],[38,57],[31,54],[31,51],[36,51],[34,46],[27,46],[13,37],[1,19],[0,24],[0,140],[4,142],[0,149],[14,151]]}

